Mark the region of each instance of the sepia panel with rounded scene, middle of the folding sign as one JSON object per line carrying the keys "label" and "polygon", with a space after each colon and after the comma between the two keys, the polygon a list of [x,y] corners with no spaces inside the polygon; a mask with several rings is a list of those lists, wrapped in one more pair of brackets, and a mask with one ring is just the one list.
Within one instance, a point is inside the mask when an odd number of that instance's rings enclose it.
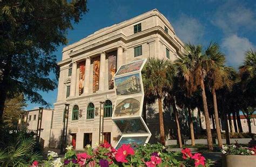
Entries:
{"label": "sepia panel with rounded scene, middle of the folding sign", "polygon": [[142,97],[117,99],[113,117],[134,117],[140,114]]}

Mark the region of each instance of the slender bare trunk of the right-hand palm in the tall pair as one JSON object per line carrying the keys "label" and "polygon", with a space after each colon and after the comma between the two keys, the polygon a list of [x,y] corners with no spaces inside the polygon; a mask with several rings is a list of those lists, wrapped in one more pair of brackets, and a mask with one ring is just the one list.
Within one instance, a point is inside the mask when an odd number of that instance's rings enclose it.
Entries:
{"label": "slender bare trunk of the right-hand palm in the tall pair", "polygon": [[216,133],[217,133],[217,139],[218,139],[218,146],[222,147],[223,142],[222,142],[221,133],[220,133],[219,113],[218,113],[218,106],[217,106],[217,98],[216,98],[215,89],[212,89],[212,97],[213,97],[214,117],[215,117],[215,122],[216,122]]}

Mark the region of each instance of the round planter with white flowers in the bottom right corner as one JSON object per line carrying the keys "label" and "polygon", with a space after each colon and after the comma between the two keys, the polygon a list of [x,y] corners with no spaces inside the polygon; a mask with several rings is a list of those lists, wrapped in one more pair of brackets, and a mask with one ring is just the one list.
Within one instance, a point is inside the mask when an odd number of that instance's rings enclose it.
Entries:
{"label": "round planter with white flowers in the bottom right corner", "polygon": [[248,148],[233,144],[221,149],[223,166],[256,166],[256,148]]}

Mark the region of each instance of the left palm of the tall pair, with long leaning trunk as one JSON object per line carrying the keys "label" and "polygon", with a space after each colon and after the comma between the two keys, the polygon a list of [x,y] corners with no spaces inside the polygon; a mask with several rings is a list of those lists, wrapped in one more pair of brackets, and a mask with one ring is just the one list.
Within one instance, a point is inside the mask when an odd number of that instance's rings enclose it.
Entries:
{"label": "left palm of the tall pair, with long leaning trunk", "polygon": [[210,118],[207,107],[204,79],[207,73],[207,56],[203,53],[203,47],[198,45],[185,45],[185,53],[176,60],[178,67],[178,75],[184,78],[185,85],[192,94],[201,88],[201,96],[203,98],[203,108],[206,121],[206,132],[208,148],[213,150],[212,133],[210,126]]}

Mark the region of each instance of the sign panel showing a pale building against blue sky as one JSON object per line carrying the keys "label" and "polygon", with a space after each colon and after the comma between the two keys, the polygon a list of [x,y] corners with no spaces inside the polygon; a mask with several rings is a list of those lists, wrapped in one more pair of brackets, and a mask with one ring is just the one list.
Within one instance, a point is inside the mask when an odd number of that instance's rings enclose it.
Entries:
{"label": "sign panel showing a pale building against blue sky", "polygon": [[142,85],[140,83],[139,73],[115,78],[114,84],[116,85],[117,96],[142,93]]}

